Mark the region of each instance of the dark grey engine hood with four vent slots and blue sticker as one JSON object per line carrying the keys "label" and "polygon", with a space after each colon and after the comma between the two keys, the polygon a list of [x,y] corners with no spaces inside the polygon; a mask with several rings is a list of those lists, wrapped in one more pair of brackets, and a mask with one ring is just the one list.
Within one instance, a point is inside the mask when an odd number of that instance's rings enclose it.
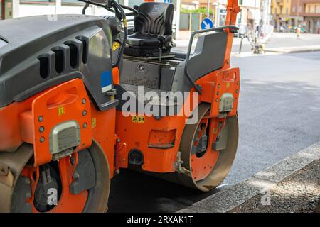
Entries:
{"label": "dark grey engine hood with four vent slots and blue sticker", "polygon": [[101,111],[117,104],[112,84],[112,31],[105,18],[29,16],[0,21],[0,108],[79,78]]}

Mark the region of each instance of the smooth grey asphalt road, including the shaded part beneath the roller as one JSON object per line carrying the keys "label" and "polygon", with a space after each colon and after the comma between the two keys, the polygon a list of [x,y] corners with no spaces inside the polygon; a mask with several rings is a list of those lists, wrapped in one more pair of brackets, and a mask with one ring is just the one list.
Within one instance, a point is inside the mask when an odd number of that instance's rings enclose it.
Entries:
{"label": "smooth grey asphalt road, including the shaded part beneath the roller", "polygon": [[175,212],[320,140],[320,52],[233,57],[240,140],[223,186],[201,193],[130,170],[112,179],[109,212]]}

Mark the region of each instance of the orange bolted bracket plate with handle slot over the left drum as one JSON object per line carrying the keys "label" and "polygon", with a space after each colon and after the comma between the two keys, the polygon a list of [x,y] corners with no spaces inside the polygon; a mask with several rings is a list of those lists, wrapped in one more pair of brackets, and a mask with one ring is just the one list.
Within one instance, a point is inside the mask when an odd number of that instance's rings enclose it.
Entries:
{"label": "orange bolted bracket plate with handle slot over the left drum", "polygon": [[[82,103],[82,100],[87,101]],[[90,147],[92,132],[89,100],[83,82],[74,79],[43,92],[33,99],[31,110],[21,113],[21,139],[33,144],[34,166],[52,160],[48,141],[51,129],[59,123],[76,121],[81,131],[81,143],[77,150]],[[85,116],[82,114],[84,112]]]}

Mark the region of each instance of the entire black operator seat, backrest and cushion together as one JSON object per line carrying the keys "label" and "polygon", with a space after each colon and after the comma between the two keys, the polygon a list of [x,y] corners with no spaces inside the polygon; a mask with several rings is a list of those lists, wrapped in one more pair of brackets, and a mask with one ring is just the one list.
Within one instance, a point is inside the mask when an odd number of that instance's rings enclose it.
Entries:
{"label": "entire black operator seat, backrest and cushion together", "polygon": [[159,56],[170,52],[174,4],[144,2],[134,17],[134,33],[128,35],[125,55]]}

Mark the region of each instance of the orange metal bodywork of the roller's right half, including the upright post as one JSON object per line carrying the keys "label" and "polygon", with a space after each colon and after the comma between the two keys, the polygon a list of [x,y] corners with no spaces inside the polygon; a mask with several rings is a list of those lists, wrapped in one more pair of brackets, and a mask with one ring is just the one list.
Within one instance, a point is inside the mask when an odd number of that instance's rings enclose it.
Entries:
{"label": "orange metal bodywork of the roller's right half, including the upright post", "polygon": [[[238,1],[228,0],[227,11],[225,25],[235,25],[237,13],[240,11]],[[211,104],[208,118],[213,119],[218,117],[220,97],[225,92],[233,94],[234,97],[233,110],[230,111],[228,116],[235,116],[238,108],[240,73],[238,68],[230,69],[233,33],[231,33],[230,29],[226,29],[225,31],[228,33],[228,40],[223,67],[196,81],[196,84],[203,87],[203,92],[199,95],[200,102]],[[196,91],[195,89],[191,89],[191,92]],[[192,103],[192,100],[190,102]],[[184,109],[184,106],[182,109]],[[151,172],[175,172],[176,167],[174,166],[174,162],[176,162],[176,153],[179,150],[181,136],[188,117],[189,116],[186,115],[167,116],[157,120],[152,116],[144,116],[144,123],[134,123],[132,122],[131,116],[125,117],[122,115],[121,111],[117,111],[116,133],[119,138],[122,139],[122,146],[120,148],[120,166],[127,168],[129,151],[132,149],[139,149],[144,154],[143,170]],[[215,141],[218,133],[220,133],[220,128],[217,127],[217,123],[218,121],[214,120],[214,123],[210,126],[214,127],[213,131],[215,131],[215,133],[212,133],[211,137],[208,138],[209,141]],[[171,135],[171,138],[166,138],[167,141],[171,141],[171,146],[166,149],[154,148],[154,131],[157,131],[158,144],[163,143],[163,138]],[[172,134],[172,132],[175,133]],[[150,146],[151,143],[153,143],[153,146]],[[214,153],[213,156],[215,157],[206,155],[204,158],[213,159],[213,162],[215,162],[214,160],[217,160],[218,156],[216,153]],[[196,165],[201,165],[201,160]],[[200,172],[196,175],[200,177],[203,173]]]}

